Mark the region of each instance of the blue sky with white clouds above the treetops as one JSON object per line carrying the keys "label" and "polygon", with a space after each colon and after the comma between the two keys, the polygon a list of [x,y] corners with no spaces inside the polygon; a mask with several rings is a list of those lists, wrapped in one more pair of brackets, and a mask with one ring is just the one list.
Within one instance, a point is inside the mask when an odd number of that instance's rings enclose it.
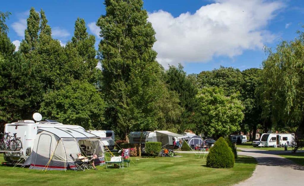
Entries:
{"label": "blue sky with white clouds above the treetops", "polygon": [[[16,45],[23,39],[32,6],[45,11],[53,37],[63,45],[71,39],[77,17],[84,18],[88,32],[97,35],[94,22],[105,14],[103,1],[16,0],[1,4],[0,11],[12,13],[7,25]],[[187,73],[199,73],[221,65],[240,70],[260,67],[267,58],[263,46],[274,48],[303,30],[302,4],[300,0],[146,0],[144,8],[156,31],[154,49],[159,63],[164,67],[182,63]]]}

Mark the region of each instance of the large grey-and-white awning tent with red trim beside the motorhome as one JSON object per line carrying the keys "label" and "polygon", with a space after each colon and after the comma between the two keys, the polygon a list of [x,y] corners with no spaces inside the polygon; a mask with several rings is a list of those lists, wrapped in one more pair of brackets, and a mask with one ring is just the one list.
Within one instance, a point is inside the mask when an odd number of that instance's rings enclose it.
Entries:
{"label": "large grey-and-white awning tent with red trim beside the motorhome", "polygon": [[98,156],[95,165],[104,163],[104,150],[100,137],[83,128],[43,127],[37,130],[33,151],[22,166],[30,169],[75,169],[72,155],[91,153]]}

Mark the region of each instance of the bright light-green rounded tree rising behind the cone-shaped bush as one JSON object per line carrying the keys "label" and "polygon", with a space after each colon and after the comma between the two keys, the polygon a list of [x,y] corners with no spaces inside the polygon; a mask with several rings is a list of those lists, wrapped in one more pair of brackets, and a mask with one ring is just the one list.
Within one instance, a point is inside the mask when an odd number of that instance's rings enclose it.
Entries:
{"label": "bright light-green rounded tree rising behind the cone-shaped bush", "polygon": [[198,98],[206,135],[223,136],[240,130],[244,106],[237,97],[236,94],[226,96],[221,88],[202,88]]}

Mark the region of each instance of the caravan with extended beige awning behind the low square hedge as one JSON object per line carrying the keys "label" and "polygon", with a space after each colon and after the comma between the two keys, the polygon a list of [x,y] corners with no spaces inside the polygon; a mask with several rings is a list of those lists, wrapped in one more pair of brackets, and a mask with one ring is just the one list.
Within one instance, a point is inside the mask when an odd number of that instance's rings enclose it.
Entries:
{"label": "caravan with extended beige awning behind the low square hedge", "polygon": [[[140,143],[141,132],[130,132],[130,143]],[[145,142],[161,142],[163,146],[173,145],[174,141],[179,141],[179,139],[187,139],[188,136],[181,134],[176,134],[169,131],[143,131],[143,137],[141,143]]]}

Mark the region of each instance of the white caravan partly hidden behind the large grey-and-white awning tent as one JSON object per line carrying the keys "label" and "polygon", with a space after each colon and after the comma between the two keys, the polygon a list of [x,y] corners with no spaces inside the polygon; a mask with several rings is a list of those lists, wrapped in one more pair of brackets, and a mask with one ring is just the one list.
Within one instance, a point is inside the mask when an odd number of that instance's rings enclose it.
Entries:
{"label": "white caravan partly hidden behind the large grey-and-white awning tent", "polygon": [[112,150],[115,146],[115,136],[114,131],[87,131],[89,133],[95,134],[102,138],[102,144],[105,149],[109,148]]}

